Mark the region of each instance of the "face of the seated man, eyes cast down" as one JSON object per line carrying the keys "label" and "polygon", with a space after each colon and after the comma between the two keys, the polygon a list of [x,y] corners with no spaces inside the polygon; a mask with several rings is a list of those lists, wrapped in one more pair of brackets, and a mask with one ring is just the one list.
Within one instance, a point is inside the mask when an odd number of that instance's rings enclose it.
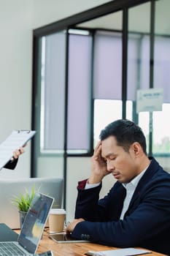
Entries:
{"label": "face of the seated man, eyes cast down", "polygon": [[117,146],[114,136],[109,136],[101,142],[101,157],[107,162],[108,172],[121,183],[128,183],[139,174],[134,144],[127,152],[122,146]]}

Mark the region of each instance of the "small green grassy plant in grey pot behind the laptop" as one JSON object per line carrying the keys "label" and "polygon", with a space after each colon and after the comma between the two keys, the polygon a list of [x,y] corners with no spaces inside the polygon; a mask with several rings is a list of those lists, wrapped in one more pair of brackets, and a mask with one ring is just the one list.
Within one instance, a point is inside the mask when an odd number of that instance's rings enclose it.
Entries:
{"label": "small green grassy plant in grey pot behind the laptop", "polygon": [[34,186],[31,190],[31,193],[29,193],[28,190],[25,189],[25,192],[23,194],[20,193],[20,195],[18,196],[14,195],[12,198],[12,204],[18,208],[20,214],[20,228],[23,226],[24,219],[26,217],[28,208],[31,205],[35,192],[36,189]]}

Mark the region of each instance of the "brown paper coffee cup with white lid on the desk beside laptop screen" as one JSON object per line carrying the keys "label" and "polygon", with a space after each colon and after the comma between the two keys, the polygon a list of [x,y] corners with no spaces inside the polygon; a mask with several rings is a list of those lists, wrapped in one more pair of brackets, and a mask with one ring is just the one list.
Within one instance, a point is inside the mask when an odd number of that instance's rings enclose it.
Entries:
{"label": "brown paper coffee cup with white lid on the desk beside laptop screen", "polygon": [[52,208],[49,214],[50,233],[62,232],[65,219],[66,211],[64,209]]}

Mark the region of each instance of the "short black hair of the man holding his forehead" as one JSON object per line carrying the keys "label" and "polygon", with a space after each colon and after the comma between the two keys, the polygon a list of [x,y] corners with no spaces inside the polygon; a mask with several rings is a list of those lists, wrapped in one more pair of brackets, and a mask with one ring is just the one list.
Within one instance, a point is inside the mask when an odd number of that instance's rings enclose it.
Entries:
{"label": "short black hair of the man holding his forehead", "polygon": [[118,119],[108,124],[107,127],[101,130],[100,140],[105,140],[109,136],[114,136],[117,140],[117,146],[122,146],[125,151],[128,151],[131,144],[138,142],[147,154],[146,138],[142,129],[133,121],[127,119]]}

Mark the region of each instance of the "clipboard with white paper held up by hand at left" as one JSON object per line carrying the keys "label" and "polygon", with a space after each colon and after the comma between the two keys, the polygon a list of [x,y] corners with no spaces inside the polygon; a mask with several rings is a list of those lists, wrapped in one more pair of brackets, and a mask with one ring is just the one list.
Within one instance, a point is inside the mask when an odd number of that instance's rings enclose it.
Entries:
{"label": "clipboard with white paper held up by hand at left", "polygon": [[12,133],[0,144],[0,170],[9,162],[13,156],[13,151],[26,145],[36,131],[30,130],[13,130]]}

